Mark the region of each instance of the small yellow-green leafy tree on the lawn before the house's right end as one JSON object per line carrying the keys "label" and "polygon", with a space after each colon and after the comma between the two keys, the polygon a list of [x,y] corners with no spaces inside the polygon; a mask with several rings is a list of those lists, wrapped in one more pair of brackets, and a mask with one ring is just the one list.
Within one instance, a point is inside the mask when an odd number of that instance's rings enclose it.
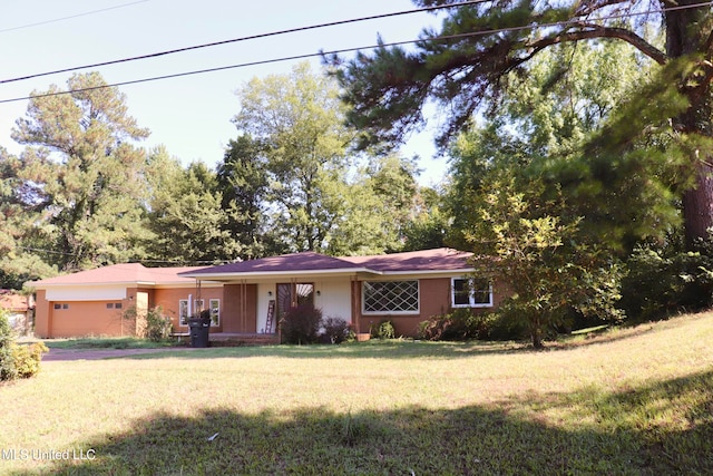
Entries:
{"label": "small yellow-green leafy tree on the lawn before the house's right end", "polygon": [[536,349],[573,310],[619,319],[618,266],[579,233],[582,217],[565,211],[561,196],[543,201],[539,181],[516,184],[507,169],[489,178],[466,240],[475,246],[475,275],[507,283],[510,295],[497,312],[524,322]]}

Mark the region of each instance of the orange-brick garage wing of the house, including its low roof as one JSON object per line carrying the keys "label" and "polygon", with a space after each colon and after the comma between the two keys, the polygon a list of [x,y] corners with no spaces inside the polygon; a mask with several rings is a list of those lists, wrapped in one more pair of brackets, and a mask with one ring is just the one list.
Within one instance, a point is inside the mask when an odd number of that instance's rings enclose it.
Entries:
{"label": "orange-brick garage wing of the house, including its low roof", "polygon": [[155,307],[170,317],[174,329],[185,327],[185,331],[189,308],[211,309],[214,329],[219,331],[223,286],[203,283],[203,301],[197,300],[195,280],[180,275],[197,269],[125,263],[28,282],[36,290],[35,334],[136,336],[145,326],[146,312]]}

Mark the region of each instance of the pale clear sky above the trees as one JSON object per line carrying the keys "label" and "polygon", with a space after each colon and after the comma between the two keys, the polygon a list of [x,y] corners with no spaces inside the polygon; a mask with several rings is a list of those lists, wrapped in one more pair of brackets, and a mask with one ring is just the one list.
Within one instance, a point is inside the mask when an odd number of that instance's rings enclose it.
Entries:
{"label": "pale clear sky above the trees", "polygon": [[[411,10],[410,0],[3,0],[0,16],[0,79],[260,35],[283,29]],[[97,10],[104,10],[98,11]],[[89,13],[94,12],[94,13]],[[87,14],[85,14],[87,13]],[[72,17],[72,18],[68,18]],[[60,20],[61,19],[61,20]],[[95,68],[110,84],[224,67],[272,58],[416,39],[440,22],[431,13],[370,20],[299,33],[241,41],[160,58]],[[349,56],[346,56],[349,57]],[[320,59],[310,60],[314,70]],[[214,166],[236,136],[231,118],[240,109],[235,90],[251,78],[286,74],[295,61],[121,86],[129,114],[152,130],[146,146],[163,144],[185,164]],[[56,84],[66,88],[71,72],[0,84],[0,99],[26,97]],[[0,104],[0,146],[22,147],[10,138],[27,101]],[[447,168],[433,159],[432,132],[413,137],[402,149],[418,154],[433,185]]]}

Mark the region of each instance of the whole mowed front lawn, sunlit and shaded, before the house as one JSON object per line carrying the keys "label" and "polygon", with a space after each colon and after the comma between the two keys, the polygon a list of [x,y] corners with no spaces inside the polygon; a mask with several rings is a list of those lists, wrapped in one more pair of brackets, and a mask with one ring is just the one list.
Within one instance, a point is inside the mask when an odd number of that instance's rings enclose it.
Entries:
{"label": "whole mowed front lawn, sunlit and shaded, before the house", "polygon": [[48,361],[0,406],[11,475],[713,474],[713,313],[543,352],[370,341]]}

